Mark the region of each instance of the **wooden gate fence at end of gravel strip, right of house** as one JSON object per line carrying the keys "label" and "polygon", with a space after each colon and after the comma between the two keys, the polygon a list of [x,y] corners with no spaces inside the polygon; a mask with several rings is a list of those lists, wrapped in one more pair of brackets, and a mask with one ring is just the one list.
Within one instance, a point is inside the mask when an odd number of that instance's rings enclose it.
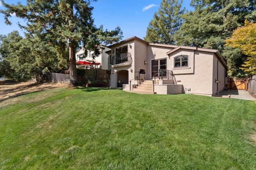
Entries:
{"label": "wooden gate fence at end of gravel strip, right of house", "polygon": [[247,78],[228,78],[227,89],[247,90]]}

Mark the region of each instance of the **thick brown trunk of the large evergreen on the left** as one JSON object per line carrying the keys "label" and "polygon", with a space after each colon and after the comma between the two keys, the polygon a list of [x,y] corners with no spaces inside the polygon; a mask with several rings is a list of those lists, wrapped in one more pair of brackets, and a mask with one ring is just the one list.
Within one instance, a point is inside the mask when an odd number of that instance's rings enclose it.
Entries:
{"label": "thick brown trunk of the large evergreen on the left", "polygon": [[76,70],[76,51],[72,40],[69,41],[69,74],[70,85],[76,85],[78,82],[77,70]]}

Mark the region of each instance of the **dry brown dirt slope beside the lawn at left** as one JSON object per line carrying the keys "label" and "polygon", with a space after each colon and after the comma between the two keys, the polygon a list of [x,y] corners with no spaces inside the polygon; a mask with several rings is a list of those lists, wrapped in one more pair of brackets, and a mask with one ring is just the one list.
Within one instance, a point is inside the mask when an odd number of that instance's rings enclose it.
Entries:
{"label": "dry brown dirt slope beside the lawn at left", "polygon": [[0,102],[30,92],[39,92],[51,88],[68,87],[61,83],[14,82],[0,80]]}

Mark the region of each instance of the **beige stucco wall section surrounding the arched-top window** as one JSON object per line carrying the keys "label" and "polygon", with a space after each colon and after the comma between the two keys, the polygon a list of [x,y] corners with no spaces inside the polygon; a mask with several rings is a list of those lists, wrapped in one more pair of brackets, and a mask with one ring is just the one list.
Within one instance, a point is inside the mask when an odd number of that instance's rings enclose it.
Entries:
{"label": "beige stucco wall section surrounding the arched-top window", "polygon": [[[173,58],[180,54],[189,55],[188,68],[173,68]],[[190,93],[212,96],[213,53],[182,49],[170,54],[170,70],[173,71],[177,84],[183,84],[184,91],[190,88]]]}

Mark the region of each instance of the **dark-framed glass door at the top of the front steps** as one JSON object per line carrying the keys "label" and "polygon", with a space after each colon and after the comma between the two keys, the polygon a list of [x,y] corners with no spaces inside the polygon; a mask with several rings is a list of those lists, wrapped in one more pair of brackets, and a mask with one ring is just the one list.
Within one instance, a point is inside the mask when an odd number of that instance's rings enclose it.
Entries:
{"label": "dark-framed glass door at the top of the front steps", "polygon": [[166,59],[156,59],[151,61],[151,77],[166,77]]}

